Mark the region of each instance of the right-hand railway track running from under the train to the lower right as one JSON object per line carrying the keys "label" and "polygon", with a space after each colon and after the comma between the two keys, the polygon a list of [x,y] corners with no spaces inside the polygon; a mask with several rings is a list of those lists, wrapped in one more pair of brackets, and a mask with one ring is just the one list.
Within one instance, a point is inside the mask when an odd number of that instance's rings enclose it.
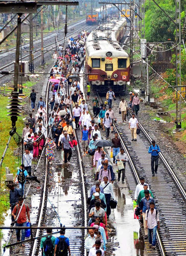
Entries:
{"label": "right-hand railway track running from under the train to the lower right", "polygon": [[[148,154],[152,138],[139,122],[140,136],[137,136],[137,142],[131,141],[131,132],[128,129],[128,120],[131,116],[129,115],[126,123],[122,123],[121,115],[117,114],[118,106],[118,100],[113,102],[112,108],[117,116],[117,124],[114,124],[114,129],[118,132],[130,159],[129,168],[126,168],[126,179],[129,189],[132,191],[132,198],[134,199],[135,186],[139,183],[139,176],[143,175],[155,196],[155,204],[159,211],[158,252],[168,256],[186,255],[186,223],[183,209],[186,193],[184,187],[162,153],[159,154],[158,174],[152,177],[151,155]],[[145,245],[148,253],[151,253],[152,250],[148,247],[147,240],[145,240]]]}

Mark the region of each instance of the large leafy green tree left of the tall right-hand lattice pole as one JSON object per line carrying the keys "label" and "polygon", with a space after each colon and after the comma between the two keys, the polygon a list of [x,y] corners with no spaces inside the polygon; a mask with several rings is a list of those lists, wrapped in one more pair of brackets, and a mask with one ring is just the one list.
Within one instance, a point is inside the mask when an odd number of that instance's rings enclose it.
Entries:
{"label": "large leafy green tree left of the tall right-hand lattice pole", "polygon": [[[171,7],[163,7],[165,12],[174,20],[175,19],[175,9]],[[156,8],[154,14],[151,18],[151,23],[149,25],[149,36],[151,42],[163,42],[171,38],[172,41],[175,40],[174,36],[175,24],[160,10]]]}

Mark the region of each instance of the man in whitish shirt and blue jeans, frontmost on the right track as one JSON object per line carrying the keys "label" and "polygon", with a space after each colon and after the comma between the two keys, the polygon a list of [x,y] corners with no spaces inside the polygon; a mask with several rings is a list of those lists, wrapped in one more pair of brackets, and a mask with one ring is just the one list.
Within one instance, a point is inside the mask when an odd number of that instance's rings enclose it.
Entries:
{"label": "man in whitish shirt and blue jeans, frontmost on the right track", "polygon": [[[148,241],[150,243],[149,247],[156,249],[156,230],[159,229],[159,213],[158,210],[154,209],[154,203],[150,203],[150,209],[145,212],[145,224],[148,230]],[[158,224],[158,225],[157,225]],[[153,230],[153,240],[152,240],[152,230]]]}

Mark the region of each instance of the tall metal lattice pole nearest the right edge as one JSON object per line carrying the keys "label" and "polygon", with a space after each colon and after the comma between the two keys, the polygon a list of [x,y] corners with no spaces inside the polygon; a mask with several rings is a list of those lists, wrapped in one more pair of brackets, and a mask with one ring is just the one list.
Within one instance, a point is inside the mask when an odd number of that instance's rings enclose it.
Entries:
{"label": "tall metal lattice pole nearest the right edge", "polygon": [[[180,114],[178,118],[178,81],[181,86],[181,15],[180,0],[176,0],[176,128],[181,128],[181,87],[180,87]],[[179,121],[178,121],[179,119]],[[178,124],[179,122],[179,124]]]}

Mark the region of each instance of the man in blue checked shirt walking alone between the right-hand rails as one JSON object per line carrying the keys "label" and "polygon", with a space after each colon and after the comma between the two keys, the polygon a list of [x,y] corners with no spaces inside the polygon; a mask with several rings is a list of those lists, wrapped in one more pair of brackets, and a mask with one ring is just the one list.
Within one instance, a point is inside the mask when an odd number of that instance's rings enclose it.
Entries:
{"label": "man in blue checked shirt walking alone between the right-hand rails", "polygon": [[152,145],[148,149],[148,153],[151,154],[151,170],[152,170],[152,176],[154,176],[154,162],[155,162],[155,174],[157,174],[158,169],[158,158],[159,158],[159,146],[156,144],[156,142],[153,140]]}

